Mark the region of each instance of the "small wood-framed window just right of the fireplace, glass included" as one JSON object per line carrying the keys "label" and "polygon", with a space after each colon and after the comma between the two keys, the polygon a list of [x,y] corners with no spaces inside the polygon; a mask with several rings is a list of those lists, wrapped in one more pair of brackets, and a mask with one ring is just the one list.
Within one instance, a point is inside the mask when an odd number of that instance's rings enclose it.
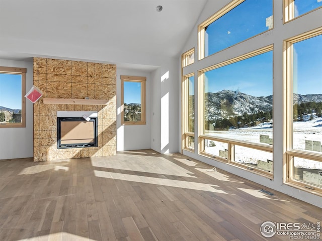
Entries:
{"label": "small wood-framed window just right of the fireplace, glass included", "polygon": [[121,123],[145,125],[146,77],[121,75]]}

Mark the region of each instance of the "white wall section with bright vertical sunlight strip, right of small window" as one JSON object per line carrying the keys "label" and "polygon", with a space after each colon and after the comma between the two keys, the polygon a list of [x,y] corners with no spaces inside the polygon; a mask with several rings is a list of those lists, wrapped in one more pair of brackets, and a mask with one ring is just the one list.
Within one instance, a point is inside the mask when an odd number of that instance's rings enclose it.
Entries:
{"label": "white wall section with bright vertical sunlight strip, right of small window", "polygon": [[179,152],[178,62],[169,59],[152,72],[151,149],[159,153]]}

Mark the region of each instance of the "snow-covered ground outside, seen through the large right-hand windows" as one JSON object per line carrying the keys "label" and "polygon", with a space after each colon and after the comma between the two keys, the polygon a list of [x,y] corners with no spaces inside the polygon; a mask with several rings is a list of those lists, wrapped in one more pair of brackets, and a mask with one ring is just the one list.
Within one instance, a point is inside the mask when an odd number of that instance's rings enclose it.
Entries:
{"label": "snow-covered ground outside, seen through the large right-hand windows", "polygon": [[[260,142],[260,135],[266,135],[269,136],[269,138],[272,138],[273,128],[271,123],[263,123],[256,127],[240,128],[228,131],[209,131],[206,134],[263,144]],[[309,115],[306,115],[304,116],[303,122],[293,123],[293,148],[295,150],[307,150],[307,144],[305,145],[305,141],[314,142],[315,148],[318,147],[318,142],[322,142],[322,117],[314,115],[314,119],[309,120]],[[220,156],[219,150],[224,151],[227,149],[227,144],[225,143],[215,142],[215,145],[215,147],[211,147],[208,142],[208,146],[205,147],[206,152],[214,156]],[[235,147],[235,162],[256,165],[258,164],[258,160],[273,160],[273,157],[272,154],[268,152],[239,146]],[[322,170],[322,162],[296,158],[294,167]]]}

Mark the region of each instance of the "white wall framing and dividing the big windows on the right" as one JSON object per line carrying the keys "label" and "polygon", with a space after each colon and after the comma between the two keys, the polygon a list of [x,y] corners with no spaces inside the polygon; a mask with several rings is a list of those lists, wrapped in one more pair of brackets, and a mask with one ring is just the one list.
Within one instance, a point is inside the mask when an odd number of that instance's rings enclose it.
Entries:
{"label": "white wall framing and dividing the big windows on the right", "polygon": [[[209,18],[216,11],[220,10],[230,1],[208,1],[204,11],[201,13],[197,24],[202,23]],[[310,14],[304,15],[298,19],[295,19],[289,23],[283,24],[283,11],[282,2],[280,0],[274,0],[274,29],[266,32],[262,35],[256,36],[249,41],[239,43],[229,49],[219,52],[215,55],[208,56],[200,61],[195,59],[195,63],[184,68],[184,75],[194,72],[195,79],[197,79],[197,71],[205,67],[209,67],[213,64],[220,63],[233,56],[243,55],[255,49],[259,49],[270,44],[274,44],[273,50],[273,94],[274,94],[274,180],[262,177],[257,174],[253,174],[244,169],[237,168],[235,166],[225,164],[213,159],[209,159],[198,155],[197,142],[195,143],[195,152],[184,151],[189,157],[208,163],[212,166],[218,167],[222,170],[228,171],[232,174],[244,177],[256,183],[262,184],[269,188],[283,192],[300,200],[309,202],[313,205],[322,207],[322,197],[310,194],[305,191],[290,187],[283,184],[283,40],[313,30],[322,26],[322,9],[318,9]],[[182,53],[195,47],[195,58],[197,58],[197,24],[194,26],[191,37],[187,40],[186,45],[182,49]],[[181,72],[180,67],[178,72]],[[198,81],[195,81],[195,90],[197,90]],[[181,95],[181,91],[178,91]],[[196,95],[197,97],[197,95]],[[195,113],[198,112],[198,98],[195,98]],[[181,117],[179,118],[181,122]],[[195,119],[195,136],[198,136],[198,119]],[[181,132],[178,133],[178,143],[181,144]]]}

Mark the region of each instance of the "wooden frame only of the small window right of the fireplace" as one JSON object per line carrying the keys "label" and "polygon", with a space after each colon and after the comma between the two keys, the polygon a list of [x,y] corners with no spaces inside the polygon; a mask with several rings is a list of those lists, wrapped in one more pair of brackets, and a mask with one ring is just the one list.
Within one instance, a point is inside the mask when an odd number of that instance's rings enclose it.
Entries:
{"label": "wooden frame only of the small window right of the fireplace", "polygon": [[[141,121],[139,122],[124,122],[124,82],[137,82],[141,83]],[[146,77],[141,76],[128,76],[128,75],[121,75],[121,125],[146,125],[146,101],[145,101],[145,94],[146,94]]]}

